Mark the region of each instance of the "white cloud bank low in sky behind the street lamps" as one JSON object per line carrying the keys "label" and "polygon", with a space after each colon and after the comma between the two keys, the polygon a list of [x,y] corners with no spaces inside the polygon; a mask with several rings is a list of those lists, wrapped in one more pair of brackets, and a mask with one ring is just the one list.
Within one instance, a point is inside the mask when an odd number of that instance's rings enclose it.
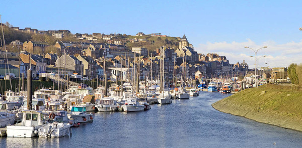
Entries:
{"label": "white cloud bank low in sky behind the street lamps", "polygon": [[[259,67],[288,67],[291,63],[302,63],[300,60],[300,58],[302,58],[302,40],[297,43],[288,42],[285,44],[266,41],[261,45],[257,45],[250,39],[247,39],[247,42],[241,43],[207,42],[206,44],[199,44],[195,50],[202,54],[217,53],[220,56],[226,56],[226,59],[228,59],[231,64],[236,64],[237,62],[242,63],[243,60],[245,60],[249,64],[249,68],[254,68],[255,52],[251,49],[244,48],[245,46],[253,48],[254,50],[267,46],[267,48],[260,49],[257,52],[257,58],[266,55],[266,57],[259,58],[259,62],[257,63]],[[267,63],[267,65],[265,63]]]}

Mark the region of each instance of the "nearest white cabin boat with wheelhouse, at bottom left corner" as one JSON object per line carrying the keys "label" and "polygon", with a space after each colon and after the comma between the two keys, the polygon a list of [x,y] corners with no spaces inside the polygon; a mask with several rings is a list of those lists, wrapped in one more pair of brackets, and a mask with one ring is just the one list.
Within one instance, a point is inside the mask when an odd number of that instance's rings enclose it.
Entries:
{"label": "nearest white cabin boat with wheelhouse, at bottom left corner", "polygon": [[8,137],[33,137],[38,129],[47,124],[44,114],[38,110],[24,110],[22,122],[7,126]]}

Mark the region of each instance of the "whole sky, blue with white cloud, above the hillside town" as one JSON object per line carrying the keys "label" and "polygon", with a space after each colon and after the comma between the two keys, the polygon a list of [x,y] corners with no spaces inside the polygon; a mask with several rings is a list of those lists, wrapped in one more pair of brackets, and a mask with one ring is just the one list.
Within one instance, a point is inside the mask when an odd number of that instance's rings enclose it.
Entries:
{"label": "whole sky, blue with white cloud, above the hillside town", "polygon": [[[198,53],[288,67],[302,58],[302,1],[7,1],[2,22],[75,33],[186,35]],[[250,57],[253,56],[253,57]],[[263,57],[266,56],[266,57]],[[267,63],[267,64],[265,64]]]}

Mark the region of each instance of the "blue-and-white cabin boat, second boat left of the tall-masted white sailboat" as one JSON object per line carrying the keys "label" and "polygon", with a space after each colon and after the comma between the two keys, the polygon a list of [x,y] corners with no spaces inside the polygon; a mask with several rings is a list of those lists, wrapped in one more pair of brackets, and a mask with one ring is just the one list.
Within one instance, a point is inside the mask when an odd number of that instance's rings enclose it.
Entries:
{"label": "blue-and-white cabin boat, second boat left of the tall-masted white sailboat", "polygon": [[122,105],[124,112],[135,112],[144,110],[145,106],[139,104],[137,98],[127,98],[125,104]]}

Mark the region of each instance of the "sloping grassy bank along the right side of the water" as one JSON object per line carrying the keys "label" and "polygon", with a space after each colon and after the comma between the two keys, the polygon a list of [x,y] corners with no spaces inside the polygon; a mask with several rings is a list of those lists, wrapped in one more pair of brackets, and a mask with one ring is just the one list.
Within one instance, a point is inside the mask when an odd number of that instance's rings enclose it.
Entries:
{"label": "sloping grassy bank along the right side of the water", "polygon": [[267,84],[212,104],[222,112],[302,131],[302,87]]}

